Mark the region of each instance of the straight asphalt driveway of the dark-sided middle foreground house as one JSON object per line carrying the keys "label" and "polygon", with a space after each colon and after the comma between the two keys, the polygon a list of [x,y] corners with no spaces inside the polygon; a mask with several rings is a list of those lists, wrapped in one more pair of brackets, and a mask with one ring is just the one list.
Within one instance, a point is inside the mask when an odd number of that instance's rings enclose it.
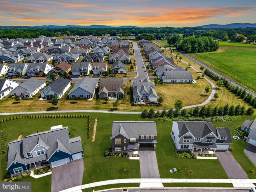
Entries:
{"label": "straight asphalt driveway of the dark-sided middle foreground house", "polygon": [[140,177],[141,178],[160,178],[155,149],[140,148]]}

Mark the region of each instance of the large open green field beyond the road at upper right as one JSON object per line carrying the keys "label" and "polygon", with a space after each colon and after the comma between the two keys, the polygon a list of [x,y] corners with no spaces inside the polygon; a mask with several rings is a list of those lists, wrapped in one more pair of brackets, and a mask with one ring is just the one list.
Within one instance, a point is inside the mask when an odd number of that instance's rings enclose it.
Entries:
{"label": "large open green field beyond the road at upper right", "polygon": [[220,46],[217,52],[190,54],[212,69],[256,92],[256,46]]}

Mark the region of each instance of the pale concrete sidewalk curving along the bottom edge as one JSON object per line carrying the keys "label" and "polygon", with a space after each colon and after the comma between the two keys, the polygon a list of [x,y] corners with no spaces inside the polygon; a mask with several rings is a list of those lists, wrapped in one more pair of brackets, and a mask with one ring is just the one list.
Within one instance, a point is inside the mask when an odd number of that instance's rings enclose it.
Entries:
{"label": "pale concrete sidewalk curving along the bottom edge", "polygon": [[140,183],[148,184],[143,188],[157,188],[164,189],[163,187],[154,187],[160,183],[232,183],[237,188],[252,188],[255,187],[253,183],[256,183],[256,179],[115,179],[100,181],[95,183],[84,184],[63,190],[61,192],[75,192],[86,188],[94,188],[97,186],[110,185],[110,184],[122,184],[122,183]]}

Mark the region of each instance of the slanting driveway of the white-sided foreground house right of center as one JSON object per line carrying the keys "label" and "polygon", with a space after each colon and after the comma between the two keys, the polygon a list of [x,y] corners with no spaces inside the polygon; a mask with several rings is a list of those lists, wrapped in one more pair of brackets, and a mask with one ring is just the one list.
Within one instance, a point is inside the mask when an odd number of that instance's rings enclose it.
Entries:
{"label": "slanting driveway of the white-sided foreground house right of center", "polygon": [[248,179],[248,176],[240,166],[240,164],[234,159],[230,151],[218,151],[215,152],[220,164],[224,168],[228,178],[230,179]]}

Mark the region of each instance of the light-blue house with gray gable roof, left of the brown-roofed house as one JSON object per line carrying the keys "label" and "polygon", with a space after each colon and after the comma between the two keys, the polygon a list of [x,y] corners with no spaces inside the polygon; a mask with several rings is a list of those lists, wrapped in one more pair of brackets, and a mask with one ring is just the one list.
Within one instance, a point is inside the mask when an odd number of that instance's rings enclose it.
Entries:
{"label": "light-blue house with gray gable roof, left of the brown-roofed house", "polygon": [[68,93],[68,97],[73,99],[74,96],[83,99],[92,99],[98,87],[98,81],[86,76],[78,80],[74,87]]}

